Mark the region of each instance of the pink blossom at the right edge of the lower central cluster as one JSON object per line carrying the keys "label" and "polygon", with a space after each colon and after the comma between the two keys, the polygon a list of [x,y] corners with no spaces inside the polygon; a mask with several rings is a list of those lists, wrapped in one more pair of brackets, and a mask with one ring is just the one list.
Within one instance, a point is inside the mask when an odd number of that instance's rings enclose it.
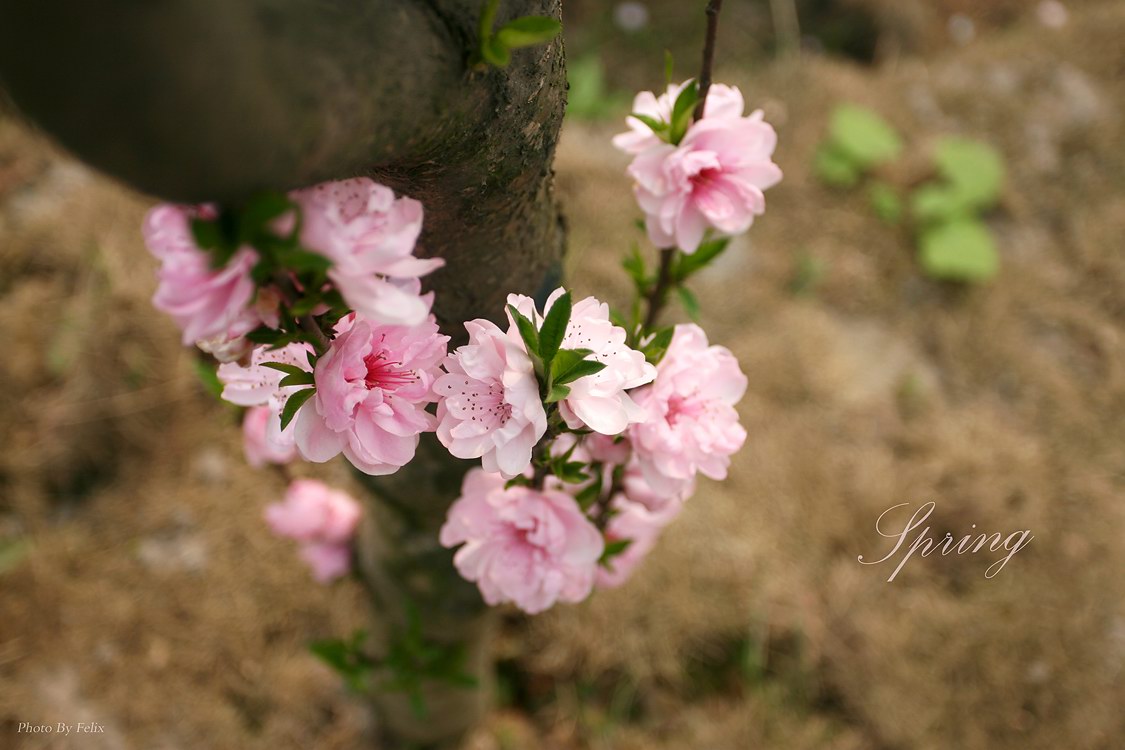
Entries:
{"label": "pink blossom at the right edge of the lower central cluster", "polygon": [[646,409],[629,440],[645,479],[658,493],[681,491],[696,471],[724,479],[730,455],[746,440],[735,404],[746,376],[734,354],[709,346],[696,325],[677,325],[651,386],[634,392]]}

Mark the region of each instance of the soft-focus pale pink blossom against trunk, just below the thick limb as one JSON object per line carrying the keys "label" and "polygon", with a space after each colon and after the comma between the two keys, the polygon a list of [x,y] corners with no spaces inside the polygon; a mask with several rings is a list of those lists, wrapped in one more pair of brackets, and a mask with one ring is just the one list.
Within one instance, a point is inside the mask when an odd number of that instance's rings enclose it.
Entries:
{"label": "soft-focus pale pink blossom against trunk, just below the thick limb", "polygon": [[414,256],[422,204],[396,199],[368,178],[324,182],[291,197],[302,208],[302,244],[332,261],[328,278],[354,310],[372,324],[425,320],[433,298],[418,295],[416,280],[444,261]]}

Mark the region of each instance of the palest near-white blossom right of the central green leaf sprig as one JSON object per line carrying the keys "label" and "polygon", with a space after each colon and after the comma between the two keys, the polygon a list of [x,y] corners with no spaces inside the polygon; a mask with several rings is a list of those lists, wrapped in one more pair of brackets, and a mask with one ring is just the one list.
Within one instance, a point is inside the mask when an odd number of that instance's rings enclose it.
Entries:
{"label": "palest near-white blossom right of the central green leaf sprig", "polygon": [[[507,302],[538,323],[565,291],[559,288],[551,292],[542,315],[536,311],[530,297],[508,295]],[[605,302],[586,297],[572,307],[561,347],[588,349],[593,353],[586,359],[601,362],[605,369],[567,385],[570,395],[559,403],[559,412],[569,427],[590,427],[603,435],[616,435],[644,418],[644,412],[626,391],[651,382],[656,368],[626,344],[627,336],[624,328],[610,322],[610,306]]]}

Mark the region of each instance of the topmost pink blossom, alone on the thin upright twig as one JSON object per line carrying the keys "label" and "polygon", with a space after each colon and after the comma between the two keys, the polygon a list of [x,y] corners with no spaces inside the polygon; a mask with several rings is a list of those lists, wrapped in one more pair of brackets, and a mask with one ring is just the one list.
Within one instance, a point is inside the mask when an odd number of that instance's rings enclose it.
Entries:
{"label": "topmost pink blossom, alone on the thin upright twig", "polygon": [[[692,82],[673,84],[656,97],[637,94],[633,112],[650,123],[670,125],[677,97]],[[777,134],[762,110],[742,116],[736,87],[711,85],[703,117],[691,124],[678,143],[668,143],[638,117],[614,145],[633,157],[629,175],[645,211],[649,240],[657,247],[694,253],[710,229],[720,235],[746,232],[765,210],[763,191],[781,181],[772,161]]]}

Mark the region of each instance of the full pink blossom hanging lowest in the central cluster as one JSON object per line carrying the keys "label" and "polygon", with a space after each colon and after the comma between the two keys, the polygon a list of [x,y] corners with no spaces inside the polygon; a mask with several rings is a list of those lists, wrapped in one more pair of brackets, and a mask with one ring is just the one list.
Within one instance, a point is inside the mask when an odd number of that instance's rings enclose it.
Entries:
{"label": "full pink blossom hanging lowest in the central cluster", "polygon": [[586,598],[604,550],[602,534],[573,497],[505,489],[502,476],[483,469],[466,475],[440,539],[443,546],[464,543],[453,564],[485,602],[512,602],[529,614]]}

